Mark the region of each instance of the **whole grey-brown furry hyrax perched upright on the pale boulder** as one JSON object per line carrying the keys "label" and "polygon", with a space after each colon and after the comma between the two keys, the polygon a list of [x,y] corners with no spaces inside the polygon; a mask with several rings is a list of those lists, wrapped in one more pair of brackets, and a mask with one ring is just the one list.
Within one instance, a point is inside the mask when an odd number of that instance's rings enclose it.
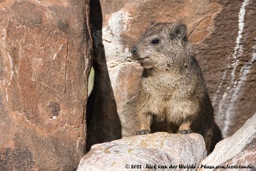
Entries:
{"label": "whole grey-brown furry hyrax perched upright on the pale boulder", "polygon": [[131,52],[145,68],[138,94],[137,134],[196,132],[205,138],[209,152],[213,109],[202,71],[186,39],[186,26],[152,24]]}

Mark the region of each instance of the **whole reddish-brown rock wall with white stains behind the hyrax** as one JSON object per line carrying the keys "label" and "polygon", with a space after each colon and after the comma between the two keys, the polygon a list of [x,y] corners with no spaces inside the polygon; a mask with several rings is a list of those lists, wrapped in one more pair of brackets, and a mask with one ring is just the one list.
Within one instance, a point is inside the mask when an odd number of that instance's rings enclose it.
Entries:
{"label": "whole reddish-brown rock wall with white stains behind the hyrax", "polygon": [[129,48],[152,21],[188,26],[223,137],[232,135],[255,112],[256,94],[250,90],[256,88],[256,1],[99,0],[91,1],[91,6],[95,49],[104,52],[97,58],[106,59],[108,91],[113,91],[124,137],[138,130],[134,107],[141,77],[138,63],[129,61]]}

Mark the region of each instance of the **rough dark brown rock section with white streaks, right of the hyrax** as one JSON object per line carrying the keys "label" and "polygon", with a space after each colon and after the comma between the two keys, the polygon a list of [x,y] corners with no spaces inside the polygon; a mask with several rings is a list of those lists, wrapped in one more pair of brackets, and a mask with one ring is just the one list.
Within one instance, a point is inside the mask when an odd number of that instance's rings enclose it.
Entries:
{"label": "rough dark brown rock section with white streaks, right of the hyrax", "polygon": [[223,137],[255,113],[256,1],[220,1],[212,33],[195,45]]}

